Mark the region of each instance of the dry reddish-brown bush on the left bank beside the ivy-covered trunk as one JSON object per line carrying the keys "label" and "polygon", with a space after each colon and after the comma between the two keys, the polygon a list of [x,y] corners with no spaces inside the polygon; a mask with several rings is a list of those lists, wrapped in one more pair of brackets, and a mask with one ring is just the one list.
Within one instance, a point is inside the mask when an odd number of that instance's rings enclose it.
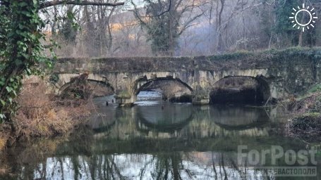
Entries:
{"label": "dry reddish-brown bush on the left bank beside the ivy-covered trunk", "polygon": [[61,99],[45,94],[47,86],[42,79],[26,79],[18,98],[20,108],[16,115],[18,136],[54,136],[71,131],[80,119],[90,114],[87,101],[78,105],[61,103]]}

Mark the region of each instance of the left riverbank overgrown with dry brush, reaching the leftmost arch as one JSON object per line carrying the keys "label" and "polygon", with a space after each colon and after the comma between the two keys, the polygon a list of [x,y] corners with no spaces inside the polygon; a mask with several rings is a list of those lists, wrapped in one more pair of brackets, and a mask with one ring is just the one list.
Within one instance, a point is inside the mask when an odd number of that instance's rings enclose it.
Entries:
{"label": "left riverbank overgrown with dry brush, reaching the leftmost arch", "polygon": [[18,110],[13,124],[0,125],[0,150],[16,141],[70,134],[85,124],[86,117],[94,109],[90,91],[85,86],[85,81],[78,81],[61,96],[54,96],[47,94],[47,84],[43,79],[25,79],[16,100]]}

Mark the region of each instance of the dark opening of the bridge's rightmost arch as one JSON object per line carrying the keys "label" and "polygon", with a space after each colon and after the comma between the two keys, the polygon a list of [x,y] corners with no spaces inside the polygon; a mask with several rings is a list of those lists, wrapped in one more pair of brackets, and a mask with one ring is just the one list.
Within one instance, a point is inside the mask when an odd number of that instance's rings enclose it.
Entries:
{"label": "dark opening of the bridge's rightmost arch", "polygon": [[214,83],[210,103],[264,104],[271,94],[267,79],[258,75],[227,76]]}

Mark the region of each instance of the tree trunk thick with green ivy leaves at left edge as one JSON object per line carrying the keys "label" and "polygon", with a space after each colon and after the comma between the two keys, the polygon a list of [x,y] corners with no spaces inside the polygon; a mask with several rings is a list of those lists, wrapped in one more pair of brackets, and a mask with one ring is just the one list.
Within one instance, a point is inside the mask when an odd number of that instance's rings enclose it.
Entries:
{"label": "tree trunk thick with green ivy leaves at left edge", "polygon": [[38,27],[42,27],[42,20],[38,15],[39,3],[35,0],[5,0],[1,1],[0,18],[1,41],[1,79],[0,79],[0,120],[13,123],[11,116],[16,110],[14,98],[21,88],[21,81],[25,72],[30,74],[32,68],[44,59],[41,56],[43,34]]}

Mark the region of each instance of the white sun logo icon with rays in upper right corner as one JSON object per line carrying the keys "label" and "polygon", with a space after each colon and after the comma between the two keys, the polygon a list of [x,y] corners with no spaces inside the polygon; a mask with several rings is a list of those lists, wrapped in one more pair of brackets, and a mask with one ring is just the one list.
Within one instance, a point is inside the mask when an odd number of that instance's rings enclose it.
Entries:
{"label": "white sun logo icon with rays in upper right corner", "polygon": [[[313,23],[315,23],[315,19],[317,19],[317,16],[315,15],[315,13],[313,12],[315,10],[315,8],[311,8],[310,10],[310,6],[305,8],[305,4],[302,4],[302,8],[300,8],[298,6],[298,9],[293,8],[293,16],[289,17],[292,21],[291,23],[293,23],[293,27],[298,27],[298,30],[302,27],[302,32],[304,32],[305,27],[310,30],[310,27],[313,28],[315,27],[313,25]],[[299,22],[298,21],[298,15],[303,15],[303,13],[308,15],[308,18],[305,22]]]}

